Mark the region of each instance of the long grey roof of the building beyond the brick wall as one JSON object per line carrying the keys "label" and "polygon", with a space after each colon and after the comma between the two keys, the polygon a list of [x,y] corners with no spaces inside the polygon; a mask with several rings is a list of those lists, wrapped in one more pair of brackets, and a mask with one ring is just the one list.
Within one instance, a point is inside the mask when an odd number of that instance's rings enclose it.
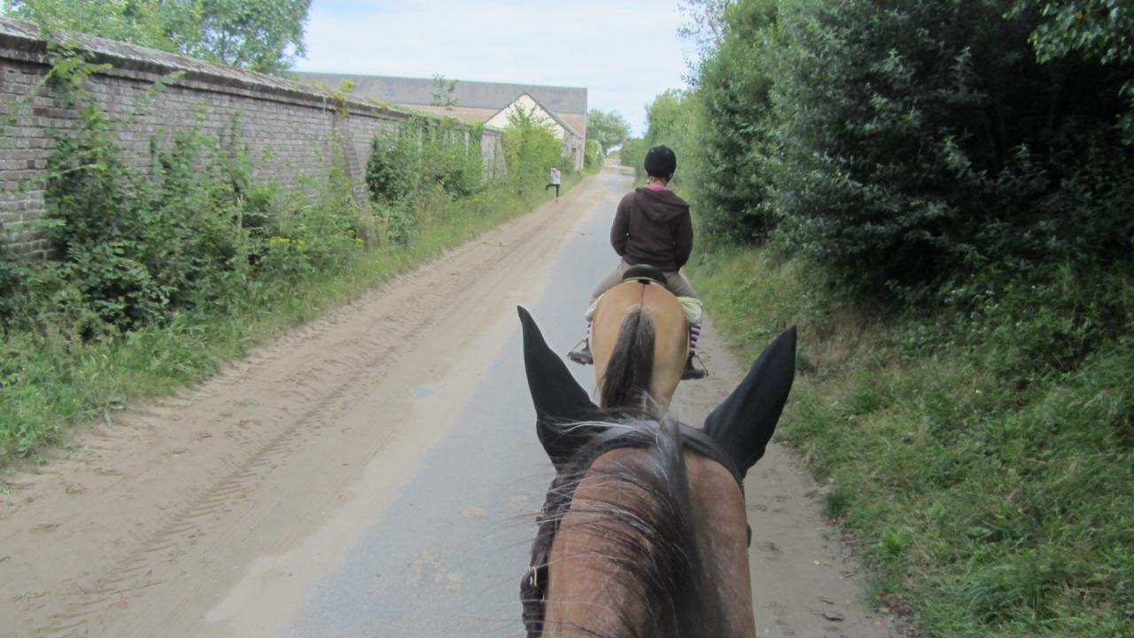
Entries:
{"label": "long grey roof of the building beyond the brick wall", "polygon": [[[337,87],[342,81],[354,82],[354,94],[379,102],[430,104],[437,91],[433,78],[390,77],[350,73],[296,73],[299,82]],[[452,79],[452,78],[447,78]],[[457,104],[469,108],[502,109],[527,93],[548,112],[586,115],[585,86],[536,86],[499,82],[458,79],[452,91]]]}

